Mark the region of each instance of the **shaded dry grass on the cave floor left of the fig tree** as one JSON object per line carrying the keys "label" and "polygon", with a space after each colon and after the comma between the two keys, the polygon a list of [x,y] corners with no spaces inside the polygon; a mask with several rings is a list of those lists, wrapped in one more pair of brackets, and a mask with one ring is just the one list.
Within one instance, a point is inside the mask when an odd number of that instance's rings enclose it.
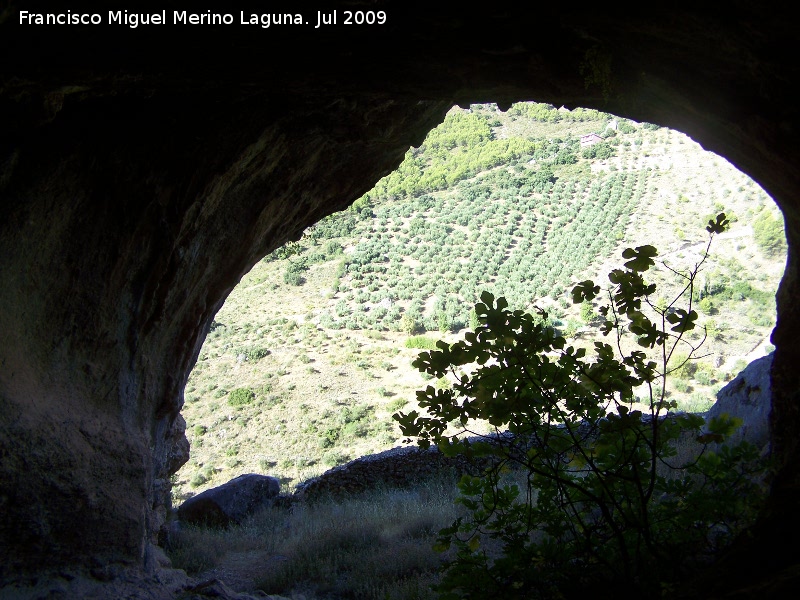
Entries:
{"label": "shaded dry grass on the cave floor left of the fig tree", "polygon": [[[240,591],[305,600],[433,599],[442,556],[432,546],[456,517],[455,494],[452,481],[429,481],[414,490],[271,508],[224,530],[184,526],[170,557],[192,575],[227,575]],[[243,553],[258,557],[246,572]]]}

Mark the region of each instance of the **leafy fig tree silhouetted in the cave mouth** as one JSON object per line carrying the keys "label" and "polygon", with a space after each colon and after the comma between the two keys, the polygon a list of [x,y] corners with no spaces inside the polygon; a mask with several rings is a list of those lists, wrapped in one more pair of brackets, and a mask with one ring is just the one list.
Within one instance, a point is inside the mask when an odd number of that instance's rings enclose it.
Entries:
{"label": "leafy fig tree silhouetted in the cave mouth", "polygon": [[[726,224],[709,221],[710,236]],[[683,289],[666,305],[643,276],[656,249],[625,250],[598,309],[613,342],[591,356],[543,313],[509,311],[489,293],[475,331],[419,355],[420,371],[455,383],[417,392],[427,414],[398,413],[401,430],[488,465],[461,479],[465,513],[439,534],[441,598],[662,597],[753,517],[763,465],[750,444],[721,445],[736,420],[676,412],[667,391],[705,339],[687,334],[710,244],[694,269],[673,270]],[[572,290],[575,303],[600,295],[588,280]]]}

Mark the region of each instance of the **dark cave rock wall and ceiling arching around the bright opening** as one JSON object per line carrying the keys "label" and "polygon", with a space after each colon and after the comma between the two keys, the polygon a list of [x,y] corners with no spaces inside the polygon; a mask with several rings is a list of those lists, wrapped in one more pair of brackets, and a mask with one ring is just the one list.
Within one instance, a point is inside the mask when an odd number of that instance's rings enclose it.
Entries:
{"label": "dark cave rock wall and ceiling arching around the bright opening", "polygon": [[[340,15],[386,10],[387,24],[319,30],[35,28],[19,24],[26,3],[0,10],[0,580],[154,568],[168,478],[187,457],[183,388],[226,295],[453,103],[483,101],[674,127],[775,198],[790,252],[773,334],[782,470],[756,539],[766,557],[800,533],[793,20],[779,3],[432,4],[342,0]],[[316,20],[304,2],[291,10]],[[765,570],[786,565],[774,558]]]}

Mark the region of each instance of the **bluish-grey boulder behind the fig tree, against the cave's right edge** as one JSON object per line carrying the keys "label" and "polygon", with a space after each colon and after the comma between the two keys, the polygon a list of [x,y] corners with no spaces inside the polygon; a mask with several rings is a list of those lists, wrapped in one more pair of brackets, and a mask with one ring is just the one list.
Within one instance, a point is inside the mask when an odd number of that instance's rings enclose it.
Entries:
{"label": "bluish-grey boulder behind the fig tree, against the cave's right edge", "polygon": [[707,419],[724,413],[742,419],[743,424],[731,436],[731,442],[746,439],[763,449],[769,445],[772,356],[769,354],[747,365],[717,393],[717,402],[706,413]]}

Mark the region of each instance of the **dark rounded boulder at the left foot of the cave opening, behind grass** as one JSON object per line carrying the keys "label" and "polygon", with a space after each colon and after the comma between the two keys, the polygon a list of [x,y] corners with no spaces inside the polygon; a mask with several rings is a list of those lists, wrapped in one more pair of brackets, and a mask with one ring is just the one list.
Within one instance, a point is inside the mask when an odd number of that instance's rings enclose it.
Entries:
{"label": "dark rounded boulder at the left foot of the cave opening, behind grass", "polygon": [[186,523],[219,527],[241,523],[256,510],[271,506],[280,491],[281,484],[274,477],[239,475],[189,498],[178,508],[178,518]]}

